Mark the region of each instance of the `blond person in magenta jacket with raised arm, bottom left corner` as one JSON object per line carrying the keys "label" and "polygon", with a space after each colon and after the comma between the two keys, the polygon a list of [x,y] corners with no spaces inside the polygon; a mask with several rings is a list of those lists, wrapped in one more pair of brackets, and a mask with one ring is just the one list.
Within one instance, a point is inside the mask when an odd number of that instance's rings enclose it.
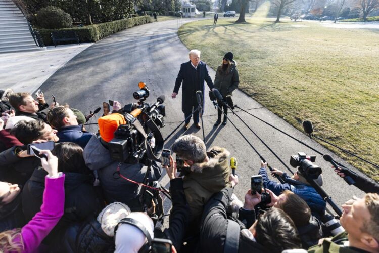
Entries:
{"label": "blond person in magenta jacket with raised arm, bottom left corner", "polygon": [[46,235],[54,228],[63,215],[65,175],[58,173],[58,159],[49,150],[40,154],[48,156],[41,159],[42,167],[48,175],[45,177],[45,190],[40,212],[22,229],[0,233],[0,247],[6,252],[35,252]]}

